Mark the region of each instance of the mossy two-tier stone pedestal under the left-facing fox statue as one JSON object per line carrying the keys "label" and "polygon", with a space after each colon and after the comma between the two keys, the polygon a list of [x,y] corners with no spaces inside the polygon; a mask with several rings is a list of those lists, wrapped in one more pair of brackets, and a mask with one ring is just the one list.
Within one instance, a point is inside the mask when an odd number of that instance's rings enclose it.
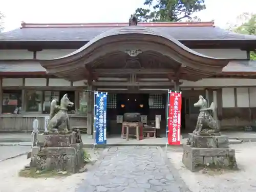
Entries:
{"label": "mossy two-tier stone pedestal under the left-facing fox statue", "polygon": [[228,146],[228,137],[221,133],[189,134],[183,145],[182,162],[191,171],[200,166],[237,168],[235,152]]}

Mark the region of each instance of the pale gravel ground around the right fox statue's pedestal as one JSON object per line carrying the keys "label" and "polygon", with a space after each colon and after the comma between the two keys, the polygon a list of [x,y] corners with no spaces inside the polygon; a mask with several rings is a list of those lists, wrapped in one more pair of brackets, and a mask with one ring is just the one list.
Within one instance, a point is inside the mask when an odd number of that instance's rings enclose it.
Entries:
{"label": "pale gravel ground around the right fox statue's pedestal", "polygon": [[256,191],[256,143],[230,145],[236,150],[240,170],[191,173],[182,164],[182,149],[168,152],[168,158],[179,169],[179,173],[189,189],[194,192],[241,192]]}

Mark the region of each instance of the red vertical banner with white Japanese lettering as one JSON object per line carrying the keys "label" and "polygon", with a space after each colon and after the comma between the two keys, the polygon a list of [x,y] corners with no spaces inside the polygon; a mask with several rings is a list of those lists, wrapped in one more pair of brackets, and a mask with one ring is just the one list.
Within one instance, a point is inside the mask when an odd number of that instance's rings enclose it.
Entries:
{"label": "red vertical banner with white Japanese lettering", "polygon": [[168,103],[168,144],[180,145],[181,92],[170,91]]}

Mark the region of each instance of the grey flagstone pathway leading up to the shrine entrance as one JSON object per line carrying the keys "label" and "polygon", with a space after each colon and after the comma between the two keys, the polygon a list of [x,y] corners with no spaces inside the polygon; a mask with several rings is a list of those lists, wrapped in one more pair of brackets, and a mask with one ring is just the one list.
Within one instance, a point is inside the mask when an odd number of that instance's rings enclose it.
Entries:
{"label": "grey flagstone pathway leading up to the shrine entrance", "polygon": [[163,156],[156,146],[111,147],[76,191],[188,192]]}

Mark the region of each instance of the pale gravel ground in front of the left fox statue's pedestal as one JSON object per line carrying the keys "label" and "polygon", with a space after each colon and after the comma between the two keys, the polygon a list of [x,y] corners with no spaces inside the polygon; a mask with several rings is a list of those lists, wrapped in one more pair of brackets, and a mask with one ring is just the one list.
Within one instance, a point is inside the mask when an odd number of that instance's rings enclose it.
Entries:
{"label": "pale gravel ground in front of the left fox statue's pedestal", "polygon": [[[88,150],[88,152],[91,154],[92,160],[97,159],[100,154],[94,154],[92,150]],[[26,155],[0,162],[0,192],[73,192],[88,174],[84,172],[69,177],[48,179],[18,177],[19,170],[28,163],[29,159]]]}

